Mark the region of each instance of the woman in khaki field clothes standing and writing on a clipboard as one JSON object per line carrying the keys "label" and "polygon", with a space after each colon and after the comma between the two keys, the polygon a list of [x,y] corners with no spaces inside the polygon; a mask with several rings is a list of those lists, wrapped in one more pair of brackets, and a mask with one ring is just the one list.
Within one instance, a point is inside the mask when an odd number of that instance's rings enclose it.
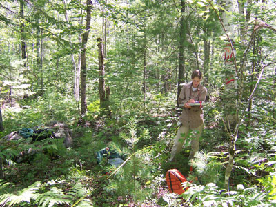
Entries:
{"label": "woman in khaki field clothes standing and writing on a clipboard", "polygon": [[204,117],[201,106],[190,106],[189,103],[195,101],[205,101],[207,89],[200,84],[202,73],[200,70],[194,70],[192,73],[192,82],[185,83],[178,97],[179,106],[183,106],[183,112],[179,118],[180,127],[177,131],[175,144],[172,146],[170,161],[175,159],[175,155],[180,152],[182,145],[190,130],[192,131],[191,150],[189,160],[194,158],[195,152],[199,150],[199,137],[201,137],[204,128]]}

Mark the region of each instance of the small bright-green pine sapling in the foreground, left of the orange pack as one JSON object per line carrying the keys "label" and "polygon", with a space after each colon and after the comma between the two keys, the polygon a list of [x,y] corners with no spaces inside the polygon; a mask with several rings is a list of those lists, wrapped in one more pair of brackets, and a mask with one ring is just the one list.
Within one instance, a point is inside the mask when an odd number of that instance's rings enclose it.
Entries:
{"label": "small bright-green pine sapling in the foreground, left of the orange pack", "polygon": [[[148,152],[137,151],[136,144],[140,137],[137,137],[136,124],[134,119],[130,119],[128,123],[128,135],[121,134],[121,137],[128,144],[129,150],[126,155],[132,158],[120,168],[113,179],[108,180],[106,190],[115,193],[115,195],[132,195],[134,201],[146,199],[147,195],[152,191],[146,186],[146,181],[152,177],[150,171],[150,155]],[[110,170],[115,170],[115,168]],[[111,171],[112,172],[112,171]]]}

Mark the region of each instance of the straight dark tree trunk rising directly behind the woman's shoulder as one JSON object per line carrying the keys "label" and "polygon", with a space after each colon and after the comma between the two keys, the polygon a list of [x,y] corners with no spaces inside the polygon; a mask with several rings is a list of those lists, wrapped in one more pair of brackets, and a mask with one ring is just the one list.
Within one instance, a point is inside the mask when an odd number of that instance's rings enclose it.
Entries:
{"label": "straight dark tree trunk rising directly behind the woman's shoulder", "polygon": [[[184,41],[185,41],[185,1],[181,0],[181,19],[180,19],[180,33],[179,33],[179,66],[178,66],[178,84],[177,84],[177,99],[181,92],[181,83],[184,83],[185,74],[185,58],[184,58]],[[179,103],[177,101],[177,108],[179,108]]]}

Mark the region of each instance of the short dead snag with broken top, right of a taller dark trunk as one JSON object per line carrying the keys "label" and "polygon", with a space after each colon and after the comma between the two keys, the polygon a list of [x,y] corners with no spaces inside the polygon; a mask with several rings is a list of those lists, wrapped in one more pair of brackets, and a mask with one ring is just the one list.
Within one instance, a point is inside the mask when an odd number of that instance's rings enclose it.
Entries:
{"label": "short dead snag with broken top, right of a taller dark trunk", "polygon": [[100,107],[107,110],[109,113],[109,88],[105,86],[104,80],[104,56],[103,56],[103,39],[98,38],[98,48],[99,48],[99,101]]}

